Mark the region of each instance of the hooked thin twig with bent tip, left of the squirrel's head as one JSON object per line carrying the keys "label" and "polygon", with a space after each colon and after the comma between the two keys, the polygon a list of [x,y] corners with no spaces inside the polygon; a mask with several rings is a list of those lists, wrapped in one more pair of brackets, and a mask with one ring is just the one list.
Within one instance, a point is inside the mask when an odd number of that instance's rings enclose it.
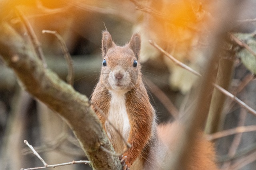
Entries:
{"label": "hooked thin twig with bent tip, left of the squirrel's head", "polygon": [[64,57],[68,63],[68,76],[67,76],[67,82],[68,84],[70,84],[71,86],[73,86],[74,84],[74,66],[73,66],[73,61],[72,58],[70,56],[70,53],[68,52],[68,48],[66,46],[66,43],[64,41],[64,39],[60,36],[60,34],[57,33],[57,31],[50,31],[50,30],[42,30],[42,33],[50,33],[53,34],[57,37],[58,42],[60,43],[60,47],[62,49],[62,53],[64,53]]}

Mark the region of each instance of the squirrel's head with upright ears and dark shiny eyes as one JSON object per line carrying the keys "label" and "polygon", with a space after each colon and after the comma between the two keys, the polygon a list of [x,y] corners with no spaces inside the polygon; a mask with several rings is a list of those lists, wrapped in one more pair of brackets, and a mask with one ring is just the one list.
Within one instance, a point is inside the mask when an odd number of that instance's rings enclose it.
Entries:
{"label": "squirrel's head with upright ears and dark shiny eyes", "polygon": [[128,91],[141,81],[140,35],[132,35],[124,47],[117,46],[110,33],[102,33],[102,83],[109,90]]}

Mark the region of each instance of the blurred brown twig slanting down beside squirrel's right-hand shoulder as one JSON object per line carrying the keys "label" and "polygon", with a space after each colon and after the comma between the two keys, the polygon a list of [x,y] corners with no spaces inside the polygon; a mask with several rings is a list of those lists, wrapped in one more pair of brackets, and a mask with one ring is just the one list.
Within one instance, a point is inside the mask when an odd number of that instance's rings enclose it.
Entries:
{"label": "blurred brown twig slanting down beside squirrel's right-hand shoulder", "polygon": [[175,119],[178,118],[179,111],[174,106],[172,101],[166,96],[166,94],[164,94],[164,92],[162,92],[162,90],[158,86],[156,86],[156,84],[154,84],[151,80],[149,80],[148,78],[144,79],[146,80],[148,86],[150,86],[151,88],[151,90],[149,89],[150,92],[152,92],[160,100],[160,102],[162,102],[164,107]]}

